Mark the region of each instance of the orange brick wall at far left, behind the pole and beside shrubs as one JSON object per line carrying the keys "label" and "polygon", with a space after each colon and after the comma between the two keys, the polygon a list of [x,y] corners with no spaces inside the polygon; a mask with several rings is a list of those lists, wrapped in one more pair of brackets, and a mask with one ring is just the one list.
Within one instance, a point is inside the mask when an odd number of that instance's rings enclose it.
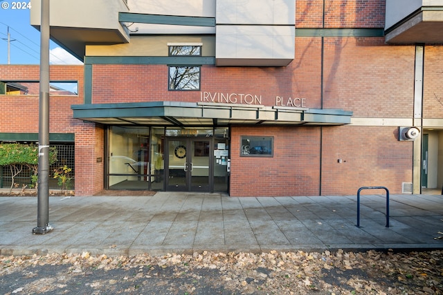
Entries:
{"label": "orange brick wall at far left, behind the pole and beside shrubs", "polygon": [[[103,188],[104,134],[95,124],[72,118],[72,104],[83,104],[83,67],[51,66],[51,81],[78,81],[78,95],[51,95],[49,132],[75,133],[75,195]],[[39,81],[39,66],[0,65],[0,81]],[[0,95],[0,133],[38,133],[39,95]]]}

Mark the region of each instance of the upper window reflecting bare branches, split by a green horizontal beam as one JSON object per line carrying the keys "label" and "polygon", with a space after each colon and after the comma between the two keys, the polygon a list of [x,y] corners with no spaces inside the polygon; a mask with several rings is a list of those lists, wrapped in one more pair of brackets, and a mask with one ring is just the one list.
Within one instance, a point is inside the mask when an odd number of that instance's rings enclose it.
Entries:
{"label": "upper window reflecting bare branches, split by a green horizontal beam", "polygon": [[[170,56],[201,56],[201,45],[169,45]],[[169,90],[199,91],[200,66],[170,66]]]}

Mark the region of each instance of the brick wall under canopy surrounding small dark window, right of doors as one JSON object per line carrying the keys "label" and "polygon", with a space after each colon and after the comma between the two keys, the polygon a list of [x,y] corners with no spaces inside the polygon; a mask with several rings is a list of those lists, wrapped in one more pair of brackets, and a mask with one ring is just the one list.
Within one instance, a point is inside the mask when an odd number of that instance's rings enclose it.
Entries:
{"label": "brick wall under canopy surrounding small dark window, right of doors", "polygon": [[[273,136],[273,158],[240,157],[242,135]],[[320,193],[320,128],[235,126],[230,144],[230,196]]]}

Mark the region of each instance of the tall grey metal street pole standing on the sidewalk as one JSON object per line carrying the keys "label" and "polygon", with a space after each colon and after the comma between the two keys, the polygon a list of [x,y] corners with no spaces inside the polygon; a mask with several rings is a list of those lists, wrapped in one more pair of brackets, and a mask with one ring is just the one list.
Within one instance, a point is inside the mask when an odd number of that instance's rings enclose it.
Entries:
{"label": "tall grey metal street pole standing on the sidewalk", "polygon": [[40,20],[39,166],[37,227],[33,234],[46,234],[49,225],[49,0],[42,0]]}

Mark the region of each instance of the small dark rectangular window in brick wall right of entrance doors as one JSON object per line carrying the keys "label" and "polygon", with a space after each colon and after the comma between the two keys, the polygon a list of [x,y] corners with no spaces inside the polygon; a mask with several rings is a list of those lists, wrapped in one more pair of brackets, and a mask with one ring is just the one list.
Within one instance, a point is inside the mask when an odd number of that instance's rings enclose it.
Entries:
{"label": "small dark rectangular window in brick wall right of entrance doors", "polygon": [[274,138],[258,136],[242,136],[240,156],[242,157],[273,157]]}

